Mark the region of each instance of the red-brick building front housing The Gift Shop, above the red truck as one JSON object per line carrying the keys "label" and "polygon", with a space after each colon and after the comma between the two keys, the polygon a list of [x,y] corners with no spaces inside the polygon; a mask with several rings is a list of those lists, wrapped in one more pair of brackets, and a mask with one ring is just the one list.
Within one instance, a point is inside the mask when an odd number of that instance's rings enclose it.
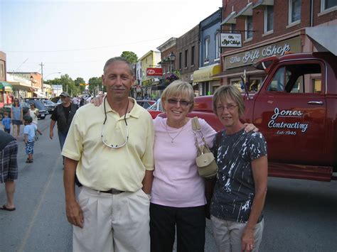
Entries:
{"label": "red-brick building front housing The Gift Shop, above the red truck", "polygon": [[[337,53],[337,3],[327,0],[223,0],[221,77],[241,87],[246,70],[250,86],[260,87],[264,72],[251,65],[263,57],[285,53]],[[235,38],[232,42],[228,35]],[[232,43],[232,45],[230,45]],[[233,47],[238,45],[242,47]],[[258,89],[258,88],[257,88]]]}

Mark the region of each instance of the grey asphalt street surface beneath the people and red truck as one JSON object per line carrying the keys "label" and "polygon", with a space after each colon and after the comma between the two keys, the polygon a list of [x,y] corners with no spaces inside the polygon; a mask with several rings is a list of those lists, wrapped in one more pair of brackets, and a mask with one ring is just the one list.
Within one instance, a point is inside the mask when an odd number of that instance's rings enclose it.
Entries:
{"label": "grey asphalt street surface beneath the people and red truck", "polygon": [[[72,226],[65,217],[63,164],[57,133],[49,139],[50,116],[39,120],[43,136],[34,163],[27,164],[18,138],[16,211],[0,211],[0,251],[71,251]],[[260,251],[337,251],[337,181],[269,177]],[[0,204],[6,192],[0,184]],[[216,251],[207,221],[205,251]]]}

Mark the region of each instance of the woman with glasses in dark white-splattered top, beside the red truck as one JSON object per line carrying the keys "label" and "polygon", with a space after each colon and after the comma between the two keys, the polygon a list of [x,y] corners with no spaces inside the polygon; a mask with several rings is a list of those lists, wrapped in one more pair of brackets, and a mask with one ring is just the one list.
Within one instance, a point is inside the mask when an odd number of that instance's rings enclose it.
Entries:
{"label": "woman with glasses in dark white-splattered top, beside the red truck", "polygon": [[[219,251],[259,251],[267,192],[267,143],[259,132],[244,131],[245,104],[232,85],[219,87],[213,109],[225,131],[218,132],[218,180],[210,205]],[[218,143],[217,143],[218,142]]]}

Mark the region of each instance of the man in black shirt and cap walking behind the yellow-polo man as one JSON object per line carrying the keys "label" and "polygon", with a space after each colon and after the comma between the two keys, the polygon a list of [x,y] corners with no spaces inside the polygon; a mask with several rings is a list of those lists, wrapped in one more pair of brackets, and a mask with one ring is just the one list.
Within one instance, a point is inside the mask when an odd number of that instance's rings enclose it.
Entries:
{"label": "man in black shirt and cap walking behind the yellow-polo man", "polygon": [[[60,142],[61,151],[67,137],[70,124],[73,121],[73,117],[77,111],[77,106],[70,102],[70,97],[67,92],[60,94],[61,104],[58,104],[50,116],[49,137],[54,137],[54,126],[58,124],[58,141]],[[64,157],[63,157],[64,163]]]}

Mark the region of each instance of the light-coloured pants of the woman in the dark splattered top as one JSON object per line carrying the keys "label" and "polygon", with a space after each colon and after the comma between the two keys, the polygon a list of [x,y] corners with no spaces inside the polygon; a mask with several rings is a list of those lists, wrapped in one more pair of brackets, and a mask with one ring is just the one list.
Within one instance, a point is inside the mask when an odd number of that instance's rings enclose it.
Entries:
{"label": "light-coloured pants of the woman in the dark splattered top", "polygon": [[[210,216],[212,220],[213,236],[215,244],[220,252],[241,252],[241,236],[247,224],[236,221],[226,221]],[[256,224],[254,229],[254,249],[253,252],[259,251],[262,241],[262,233],[264,228],[264,219]]]}

